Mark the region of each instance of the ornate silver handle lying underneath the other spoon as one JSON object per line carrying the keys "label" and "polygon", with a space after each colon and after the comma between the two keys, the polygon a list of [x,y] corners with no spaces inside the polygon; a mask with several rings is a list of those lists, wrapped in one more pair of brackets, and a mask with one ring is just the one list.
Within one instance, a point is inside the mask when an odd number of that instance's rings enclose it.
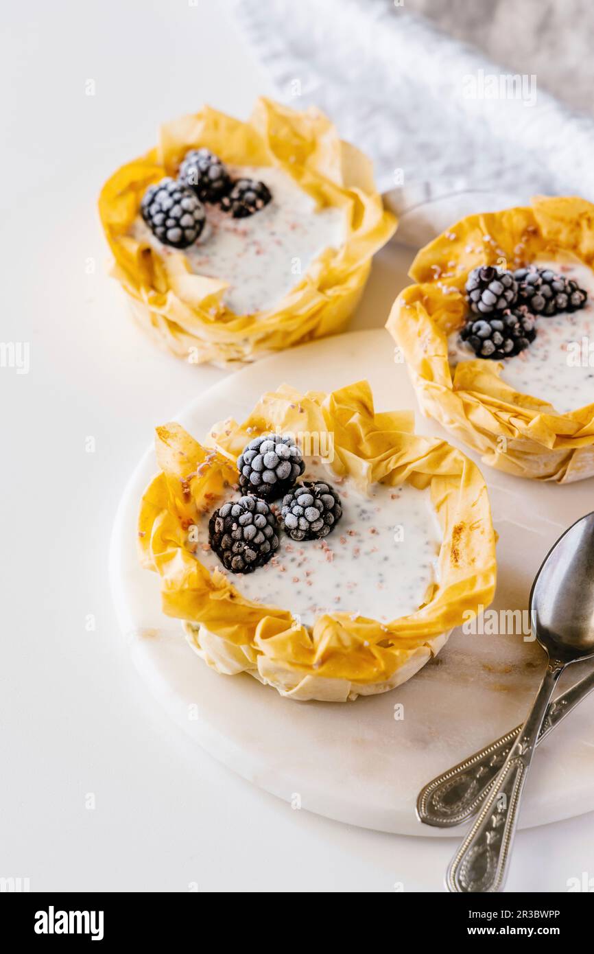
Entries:
{"label": "ornate silver handle lying underneath the other spoon", "polygon": [[[594,670],[546,710],[537,745],[594,689]],[[417,815],[426,825],[451,828],[471,819],[502,769],[522,726],[516,726],[496,742],[443,772],[420,790]]]}

